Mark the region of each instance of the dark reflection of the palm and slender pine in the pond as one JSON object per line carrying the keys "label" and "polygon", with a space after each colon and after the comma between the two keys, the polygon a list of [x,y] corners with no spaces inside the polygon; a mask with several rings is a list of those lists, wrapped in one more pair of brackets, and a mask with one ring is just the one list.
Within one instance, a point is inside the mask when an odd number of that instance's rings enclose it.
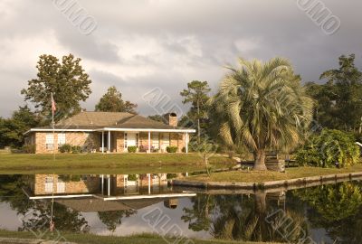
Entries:
{"label": "dark reflection of the palm and slender pine in the pond", "polygon": [[[268,213],[279,208],[275,202],[267,204],[265,192],[252,196],[199,194],[192,202],[193,207],[185,208],[182,217],[191,230],[208,230],[216,239],[287,242],[281,233],[284,230],[274,230],[266,221]],[[288,233],[288,241],[298,242],[304,234],[303,212],[286,211],[286,215],[293,220],[288,230],[295,229]]]}

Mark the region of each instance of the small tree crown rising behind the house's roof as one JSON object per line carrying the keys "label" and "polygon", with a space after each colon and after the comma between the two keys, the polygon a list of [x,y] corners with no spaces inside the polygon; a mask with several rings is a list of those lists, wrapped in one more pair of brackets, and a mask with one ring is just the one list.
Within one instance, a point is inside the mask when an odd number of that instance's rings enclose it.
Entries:
{"label": "small tree crown rising behind the house's roof", "polygon": [[96,111],[103,112],[129,112],[131,114],[137,114],[135,109],[137,104],[133,104],[130,101],[123,101],[122,94],[116,87],[110,87],[107,93],[100,98],[100,101],[96,105]]}

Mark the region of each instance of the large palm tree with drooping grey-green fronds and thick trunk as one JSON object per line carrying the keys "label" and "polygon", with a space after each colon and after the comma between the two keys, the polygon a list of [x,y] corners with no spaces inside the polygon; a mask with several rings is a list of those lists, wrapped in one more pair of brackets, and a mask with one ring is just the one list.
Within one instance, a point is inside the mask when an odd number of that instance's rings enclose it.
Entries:
{"label": "large palm tree with drooping grey-green fronds and thick trunk", "polygon": [[214,97],[219,135],[226,145],[245,145],[254,155],[254,169],[266,170],[266,150],[291,148],[312,119],[313,100],[300,85],[291,63],[239,60]]}

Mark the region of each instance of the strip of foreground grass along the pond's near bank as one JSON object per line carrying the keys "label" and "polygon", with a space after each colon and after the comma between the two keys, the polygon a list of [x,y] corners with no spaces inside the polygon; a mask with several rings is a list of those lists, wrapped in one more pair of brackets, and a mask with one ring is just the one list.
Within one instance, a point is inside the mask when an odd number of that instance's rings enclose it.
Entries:
{"label": "strip of foreground grass along the pond's near bank", "polygon": [[[174,243],[176,239],[162,239],[161,237],[153,234],[143,234],[137,236],[129,237],[110,237],[110,236],[96,236],[91,234],[71,234],[71,233],[61,233],[62,237],[67,239],[67,241],[77,242],[77,243],[90,243],[90,244],[116,244],[116,243],[132,243],[132,244],[162,244],[162,243]],[[30,232],[17,232],[17,231],[7,231],[0,230],[0,237],[7,238],[21,238],[21,239],[35,239],[32,233]],[[244,241],[231,241],[231,240],[201,240],[193,239],[195,244],[217,244],[217,243],[239,243],[239,244],[265,244],[271,242],[244,242]],[[187,242],[186,239],[181,240],[182,243],[193,243]]]}

